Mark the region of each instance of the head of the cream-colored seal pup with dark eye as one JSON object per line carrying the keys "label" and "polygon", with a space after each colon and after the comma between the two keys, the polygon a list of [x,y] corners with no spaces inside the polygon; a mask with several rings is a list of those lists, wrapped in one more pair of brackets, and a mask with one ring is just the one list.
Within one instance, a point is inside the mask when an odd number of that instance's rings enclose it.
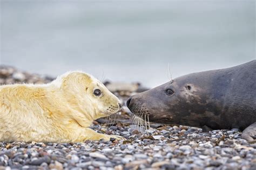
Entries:
{"label": "head of the cream-colored seal pup with dark eye", "polygon": [[69,107],[91,119],[118,112],[122,104],[102,82],[84,72],[68,72],[52,82],[65,96]]}

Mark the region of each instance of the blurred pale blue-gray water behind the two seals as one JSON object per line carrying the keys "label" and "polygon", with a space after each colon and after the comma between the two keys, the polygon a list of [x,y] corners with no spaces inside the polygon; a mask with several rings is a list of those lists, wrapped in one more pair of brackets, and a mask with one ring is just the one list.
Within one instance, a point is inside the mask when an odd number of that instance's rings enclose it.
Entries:
{"label": "blurred pale blue-gray water behind the two seals", "polygon": [[255,59],[254,1],[1,1],[0,63],[154,87]]}

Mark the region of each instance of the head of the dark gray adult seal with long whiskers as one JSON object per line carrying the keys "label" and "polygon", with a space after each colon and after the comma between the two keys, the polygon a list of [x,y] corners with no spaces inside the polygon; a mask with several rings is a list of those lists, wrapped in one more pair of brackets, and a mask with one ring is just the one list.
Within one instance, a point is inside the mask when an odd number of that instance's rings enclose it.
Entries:
{"label": "head of the dark gray adult seal with long whiskers", "polygon": [[[218,128],[221,107],[212,72],[192,73],[129,98],[127,107],[133,114],[146,115],[150,122],[204,126],[211,122]],[[212,77],[212,78],[209,78]]]}

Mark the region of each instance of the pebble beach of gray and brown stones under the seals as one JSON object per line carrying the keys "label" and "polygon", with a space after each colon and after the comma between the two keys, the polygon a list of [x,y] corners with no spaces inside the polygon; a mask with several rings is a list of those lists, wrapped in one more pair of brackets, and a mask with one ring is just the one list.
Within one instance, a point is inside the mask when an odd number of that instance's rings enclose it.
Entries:
{"label": "pebble beach of gray and brown stones under the seals", "polygon": [[[0,66],[0,84],[48,83],[53,79]],[[61,144],[1,141],[0,169],[256,169],[256,143],[241,139],[239,129],[205,133],[182,125],[138,127],[132,123],[125,102],[146,88],[131,84],[127,90],[115,89],[113,93],[124,103],[121,112],[94,121],[91,129],[126,140]]]}

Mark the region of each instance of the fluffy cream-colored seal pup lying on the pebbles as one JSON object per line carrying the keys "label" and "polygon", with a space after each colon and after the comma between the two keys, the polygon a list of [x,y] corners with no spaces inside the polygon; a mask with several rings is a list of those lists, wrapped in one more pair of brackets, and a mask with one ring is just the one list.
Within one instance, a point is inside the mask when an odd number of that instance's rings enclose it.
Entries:
{"label": "fluffy cream-colored seal pup lying on the pebbles", "polygon": [[[95,89],[102,94],[93,94]],[[122,139],[89,128],[93,120],[116,113],[119,103],[102,83],[83,72],[69,72],[43,85],[0,86],[0,140],[68,143]]]}

